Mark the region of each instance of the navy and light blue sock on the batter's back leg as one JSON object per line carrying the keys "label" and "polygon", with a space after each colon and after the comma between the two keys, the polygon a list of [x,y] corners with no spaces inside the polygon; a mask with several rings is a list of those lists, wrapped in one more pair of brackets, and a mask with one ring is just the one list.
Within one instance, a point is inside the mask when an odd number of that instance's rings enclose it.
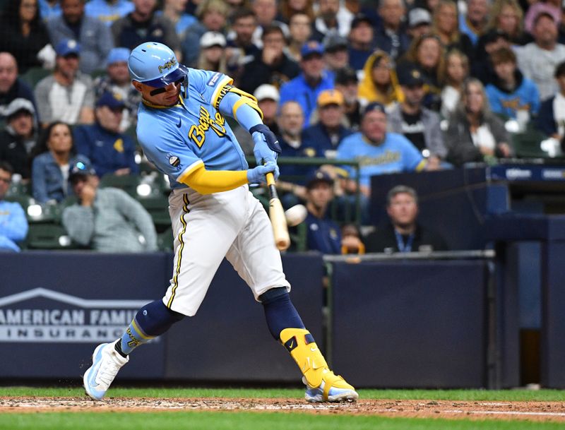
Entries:
{"label": "navy and light blue sock on the batter's back leg", "polygon": [[133,317],[133,321],[121,336],[121,342],[117,342],[117,352],[125,357],[139,345],[165,333],[182,318],[184,318],[182,313],[167,308],[162,300],[146,304]]}

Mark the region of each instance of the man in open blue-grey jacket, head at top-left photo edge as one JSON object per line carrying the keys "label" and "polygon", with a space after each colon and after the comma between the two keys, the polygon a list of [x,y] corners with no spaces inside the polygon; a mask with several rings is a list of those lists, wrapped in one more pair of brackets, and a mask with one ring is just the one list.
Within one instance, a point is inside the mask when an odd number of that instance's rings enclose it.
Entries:
{"label": "man in open blue-grey jacket, head at top-left photo edge", "polygon": [[86,16],[84,8],[85,0],[61,0],[63,13],[47,21],[47,30],[53,46],[65,39],[81,44],[79,68],[81,72],[90,74],[105,68],[114,39],[109,27],[97,18]]}

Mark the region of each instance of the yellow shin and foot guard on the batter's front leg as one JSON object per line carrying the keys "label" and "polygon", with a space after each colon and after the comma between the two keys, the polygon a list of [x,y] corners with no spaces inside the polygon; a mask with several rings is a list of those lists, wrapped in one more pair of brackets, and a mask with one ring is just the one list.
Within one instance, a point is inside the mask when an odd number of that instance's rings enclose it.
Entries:
{"label": "yellow shin and foot guard on the batter's front leg", "polygon": [[328,400],[331,387],[354,389],[341,376],[328,369],[326,359],[314,342],[314,336],[305,328],[285,328],[280,332],[280,341],[295,359],[311,388],[318,388],[323,383],[324,400]]}

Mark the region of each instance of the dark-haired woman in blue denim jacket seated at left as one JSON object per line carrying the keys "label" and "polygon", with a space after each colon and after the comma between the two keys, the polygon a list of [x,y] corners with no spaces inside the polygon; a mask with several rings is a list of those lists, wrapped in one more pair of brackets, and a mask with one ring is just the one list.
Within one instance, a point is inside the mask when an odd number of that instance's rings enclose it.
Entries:
{"label": "dark-haired woman in blue denim jacket seated at left", "polygon": [[87,157],[76,154],[71,127],[61,121],[54,121],[44,129],[35,154],[31,169],[32,191],[39,203],[59,203],[72,194],[69,169],[79,161],[90,164]]}

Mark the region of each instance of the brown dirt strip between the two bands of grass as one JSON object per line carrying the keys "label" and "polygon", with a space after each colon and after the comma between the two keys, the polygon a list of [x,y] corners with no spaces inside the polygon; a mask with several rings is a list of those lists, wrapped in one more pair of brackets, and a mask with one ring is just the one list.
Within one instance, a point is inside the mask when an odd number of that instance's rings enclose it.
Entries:
{"label": "brown dirt strip between the two bands of grass", "polygon": [[565,422],[565,402],[493,402],[453,400],[359,400],[354,403],[311,404],[294,399],[227,398],[108,398],[95,402],[81,398],[0,398],[5,412],[155,412],[254,411],[313,414],[362,414],[383,417],[449,419],[521,419]]}

